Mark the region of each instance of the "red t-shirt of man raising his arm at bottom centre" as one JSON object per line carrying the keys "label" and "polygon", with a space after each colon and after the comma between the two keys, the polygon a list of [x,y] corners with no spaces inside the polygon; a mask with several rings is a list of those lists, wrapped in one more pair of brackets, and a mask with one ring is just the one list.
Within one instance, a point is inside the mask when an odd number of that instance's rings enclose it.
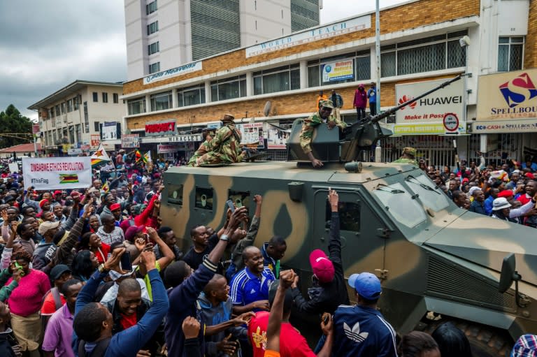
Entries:
{"label": "red t-shirt of man raising his arm at bottom centre", "polygon": [[[266,326],[268,326],[269,312],[256,312],[248,326],[248,338],[254,349],[254,357],[263,357],[266,349]],[[306,339],[290,323],[282,323],[280,331],[280,356],[295,357],[316,355],[308,346]]]}

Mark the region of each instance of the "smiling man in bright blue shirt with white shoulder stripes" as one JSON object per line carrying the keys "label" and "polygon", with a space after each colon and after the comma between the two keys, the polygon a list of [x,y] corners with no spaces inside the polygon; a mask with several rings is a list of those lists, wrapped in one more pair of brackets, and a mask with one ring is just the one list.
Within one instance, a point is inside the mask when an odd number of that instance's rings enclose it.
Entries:
{"label": "smiling man in bright blue shirt with white shoulder stripes", "polygon": [[246,267],[231,279],[231,301],[233,313],[268,310],[268,286],[274,280],[270,268],[264,265],[259,248],[250,246],[243,251]]}

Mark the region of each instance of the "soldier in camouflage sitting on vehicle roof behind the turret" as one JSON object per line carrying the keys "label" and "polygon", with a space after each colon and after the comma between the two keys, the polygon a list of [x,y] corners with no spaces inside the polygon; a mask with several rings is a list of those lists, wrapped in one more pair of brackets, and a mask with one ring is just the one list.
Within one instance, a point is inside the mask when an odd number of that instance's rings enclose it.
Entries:
{"label": "soldier in camouflage sitting on vehicle roof behind the turret", "polygon": [[243,160],[244,154],[239,146],[242,134],[236,129],[234,119],[235,117],[231,114],[224,115],[222,127],[210,141],[210,151],[200,156],[194,166],[236,163]]}

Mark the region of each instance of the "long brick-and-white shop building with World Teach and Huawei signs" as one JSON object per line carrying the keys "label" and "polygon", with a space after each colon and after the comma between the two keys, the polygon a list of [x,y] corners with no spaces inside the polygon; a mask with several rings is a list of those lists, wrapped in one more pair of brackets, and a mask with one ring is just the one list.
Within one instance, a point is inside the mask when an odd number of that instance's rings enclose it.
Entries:
{"label": "long brick-and-white shop building with World Teach and Huawei signs", "polygon": [[[450,166],[455,150],[461,158],[473,159],[481,150],[501,160],[521,159],[524,147],[537,147],[537,70],[531,69],[537,62],[537,0],[408,1],[380,11],[380,32],[382,109],[436,85],[428,81],[472,73],[389,119],[396,135],[382,141],[383,160],[397,158],[407,145],[430,164]],[[355,90],[377,77],[375,13],[180,63],[124,83],[124,123],[139,133],[141,145],[201,139],[144,138],[146,125],[172,122],[177,133],[211,125],[229,112],[255,126],[259,144],[272,159],[282,159],[285,133],[268,124],[288,126],[310,115],[320,90],[335,89],[343,96],[344,119],[356,120]],[[454,132],[444,128],[443,115],[431,115],[439,108],[436,99],[450,103],[447,109],[458,119]],[[177,145],[176,156],[189,156],[196,145]]]}

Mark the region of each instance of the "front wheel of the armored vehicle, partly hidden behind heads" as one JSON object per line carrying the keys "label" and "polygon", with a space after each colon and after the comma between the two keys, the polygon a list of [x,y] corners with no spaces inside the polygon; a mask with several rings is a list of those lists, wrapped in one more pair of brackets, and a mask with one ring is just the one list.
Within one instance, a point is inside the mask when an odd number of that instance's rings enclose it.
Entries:
{"label": "front wheel of the armored vehicle, partly hidden behind heads", "polygon": [[437,321],[424,319],[420,323],[421,328],[416,329],[433,333],[438,326],[446,322],[453,323],[468,337],[473,357],[505,357],[509,356],[513,348],[513,339],[506,330],[452,317],[443,317]]}

